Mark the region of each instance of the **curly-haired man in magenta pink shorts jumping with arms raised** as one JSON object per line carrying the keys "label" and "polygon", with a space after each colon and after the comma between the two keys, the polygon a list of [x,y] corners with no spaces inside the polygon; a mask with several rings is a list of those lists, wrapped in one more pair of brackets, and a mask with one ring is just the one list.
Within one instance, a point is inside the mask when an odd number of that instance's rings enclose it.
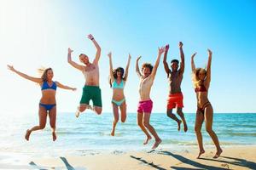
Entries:
{"label": "curly-haired man in magenta pink shorts jumping with arms raised", "polygon": [[140,102],[137,108],[137,124],[139,127],[141,127],[141,129],[143,130],[143,133],[145,133],[147,136],[147,139],[143,144],[148,144],[148,140],[152,139],[148,131],[154,136],[155,142],[152,149],[157,148],[162,140],[159,138],[159,136],[155,132],[154,127],[152,127],[149,124],[150,113],[153,107],[153,102],[150,99],[149,94],[150,94],[150,89],[154,82],[154,77],[157,71],[157,67],[160,62],[161,54],[163,54],[164,51],[165,51],[165,48],[159,48],[158,57],[156,59],[154,67],[149,63],[143,64],[143,67],[142,67],[143,74],[141,74],[141,71],[139,70],[139,66],[138,66],[138,60],[141,59],[141,56],[137,58],[137,62],[136,62],[136,71],[137,71],[138,77],[140,78],[140,87],[139,87]]}

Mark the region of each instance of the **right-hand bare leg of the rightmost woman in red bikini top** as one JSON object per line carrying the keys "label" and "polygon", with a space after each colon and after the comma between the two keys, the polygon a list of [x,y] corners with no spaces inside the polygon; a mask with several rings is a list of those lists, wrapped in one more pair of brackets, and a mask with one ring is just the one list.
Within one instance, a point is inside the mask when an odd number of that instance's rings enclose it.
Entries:
{"label": "right-hand bare leg of the rightmost woman in red bikini top", "polygon": [[205,120],[206,120],[206,129],[207,133],[211,136],[213,143],[216,146],[217,152],[213,158],[218,158],[220,154],[222,153],[222,150],[220,148],[220,145],[218,143],[218,137],[216,133],[212,130],[212,119],[213,119],[213,110],[212,105],[208,105],[205,109]]}

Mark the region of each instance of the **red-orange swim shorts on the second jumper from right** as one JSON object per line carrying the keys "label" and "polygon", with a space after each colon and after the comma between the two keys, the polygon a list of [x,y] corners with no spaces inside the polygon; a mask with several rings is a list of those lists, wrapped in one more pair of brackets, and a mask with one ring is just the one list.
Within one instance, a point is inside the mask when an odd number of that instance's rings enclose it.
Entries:
{"label": "red-orange swim shorts on the second jumper from right", "polygon": [[170,94],[167,99],[167,109],[183,108],[183,94]]}

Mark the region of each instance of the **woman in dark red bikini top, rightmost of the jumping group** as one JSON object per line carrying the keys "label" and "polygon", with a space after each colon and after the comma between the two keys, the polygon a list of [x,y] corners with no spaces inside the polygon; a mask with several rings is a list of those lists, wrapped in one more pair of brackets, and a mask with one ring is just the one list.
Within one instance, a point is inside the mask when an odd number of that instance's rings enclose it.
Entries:
{"label": "woman in dark red bikini top, rightmost of the jumping group", "polygon": [[[196,54],[196,53],[195,53]],[[212,51],[208,49],[208,63],[207,70],[203,68],[195,69],[194,58],[195,54],[191,57],[191,67],[193,74],[193,83],[195,87],[195,94],[197,99],[197,111],[196,111],[196,119],[195,119],[195,134],[197,138],[197,142],[199,145],[199,155],[197,158],[205,153],[202,144],[202,135],[201,135],[201,126],[202,123],[206,122],[207,133],[211,136],[213,143],[216,146],[217,152],[213,158],[218,158],[222,153],[220,145],[218,143],[218,137],[216,133],[212,130],[212,120],[213,120],[213,109],[212,105],[208,99],[208,89],[211,82],[211,64],[212,64]]]}

